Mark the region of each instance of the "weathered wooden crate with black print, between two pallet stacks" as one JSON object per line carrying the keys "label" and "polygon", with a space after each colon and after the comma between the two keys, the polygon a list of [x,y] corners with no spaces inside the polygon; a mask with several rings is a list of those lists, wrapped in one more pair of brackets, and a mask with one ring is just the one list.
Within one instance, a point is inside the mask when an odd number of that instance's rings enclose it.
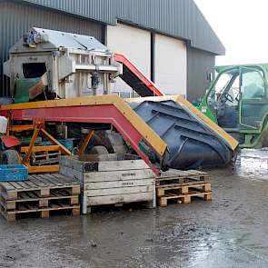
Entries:
{"label": "weathered wooden crate with black print, between two pallet stacks", "polygon": [[93,157],[90,162],[70,156],[60,161],[60,174],[81,182],[83,213],[104,204],[146,202],[155,206],[155,175],[143,160],[114,161],[113,154],[104,156],[104,161],[96,156],[94,162]]}

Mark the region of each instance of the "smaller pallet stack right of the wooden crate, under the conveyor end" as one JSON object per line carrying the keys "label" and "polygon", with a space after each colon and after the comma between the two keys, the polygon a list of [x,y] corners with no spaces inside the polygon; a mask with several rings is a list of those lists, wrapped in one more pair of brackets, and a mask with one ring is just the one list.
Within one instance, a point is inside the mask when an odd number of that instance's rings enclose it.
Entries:
{"label": "smaller pallet stack right of the wooden crate, under the conveyor end", "polygon": [[210,176],[200,171],[170,171],[156,179],[157,203],[167,206],[169,201],[191,203],[193,197],[212,200]]}

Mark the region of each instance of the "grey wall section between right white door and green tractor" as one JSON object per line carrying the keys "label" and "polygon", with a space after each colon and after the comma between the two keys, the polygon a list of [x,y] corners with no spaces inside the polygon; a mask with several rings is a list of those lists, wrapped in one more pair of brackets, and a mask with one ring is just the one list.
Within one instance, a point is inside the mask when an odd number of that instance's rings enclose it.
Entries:
{"label": "grey wall section between right white door and green tractor", "polygon": [[207,72],[212,71],[215,57],[210,53],[189,47],[187,50],[187,99],[202,98],[208,88]]}

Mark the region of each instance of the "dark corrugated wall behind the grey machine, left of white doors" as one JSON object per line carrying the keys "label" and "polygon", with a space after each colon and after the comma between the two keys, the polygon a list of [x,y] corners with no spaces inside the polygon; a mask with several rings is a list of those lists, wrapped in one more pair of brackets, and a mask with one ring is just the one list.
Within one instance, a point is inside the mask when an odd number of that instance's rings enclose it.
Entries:
{"label": "dark corrugated wall behind the grey machine, left of white doors", "polygon": [[34,6],[0,2],[0,94],[2,96],[9,93],[7,79],[3,74],[3,63],[8,58],[9,48],[32,26],[93,35],[104,42],[104,25]]}

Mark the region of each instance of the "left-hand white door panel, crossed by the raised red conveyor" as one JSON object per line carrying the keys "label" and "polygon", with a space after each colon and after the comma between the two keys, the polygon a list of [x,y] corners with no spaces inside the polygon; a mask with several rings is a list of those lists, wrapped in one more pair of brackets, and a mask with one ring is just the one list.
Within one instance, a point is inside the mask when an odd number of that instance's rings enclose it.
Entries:
{"label": "left-hand white door panel, crossed by the raised red conveyor", "polygon": [[[114,52],[124,54],[147,77],[151,75],[151,34],[132,26],[118,24],[107,26],[107,46]],[[112,88],[113,90],[113,88]],[[116,78],[113,91],[131,93],[132,89]]]}

